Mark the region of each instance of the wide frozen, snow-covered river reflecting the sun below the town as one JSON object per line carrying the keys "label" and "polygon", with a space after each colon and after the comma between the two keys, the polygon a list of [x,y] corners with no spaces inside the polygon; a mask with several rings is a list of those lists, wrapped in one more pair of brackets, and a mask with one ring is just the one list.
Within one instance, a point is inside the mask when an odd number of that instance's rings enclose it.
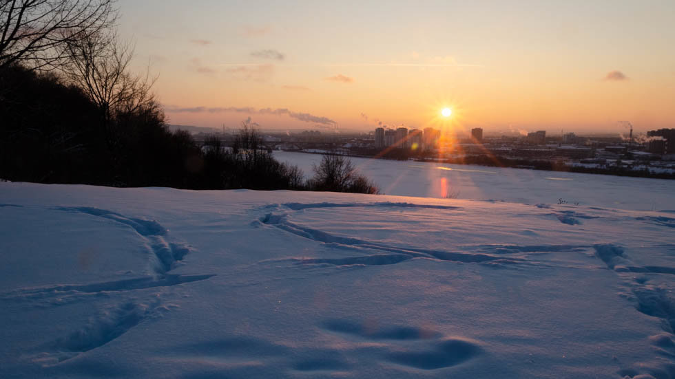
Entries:
{"label": "wide frozen, snow-covered river reflecting the sun below the town", "polygon": [[[306,177],[319,154],[275,151]],[[628,210],[675,210],[675,180],[537,171],[461,164],[351,158],[386,195],[455,197],[525,204],[568,204]]]}

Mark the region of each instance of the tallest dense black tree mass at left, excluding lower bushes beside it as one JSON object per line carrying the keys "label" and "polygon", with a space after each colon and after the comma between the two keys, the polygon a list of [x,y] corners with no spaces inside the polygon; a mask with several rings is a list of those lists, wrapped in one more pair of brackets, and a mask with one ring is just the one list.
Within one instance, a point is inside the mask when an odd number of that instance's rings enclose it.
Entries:
{"label": "tallest dense black tree mass at left, excluding lower bushes beside it", "polygon": [[53,72],[0,71],[0,177],[41,183],[190,188],[200,149],[149,101],[106,117]]}

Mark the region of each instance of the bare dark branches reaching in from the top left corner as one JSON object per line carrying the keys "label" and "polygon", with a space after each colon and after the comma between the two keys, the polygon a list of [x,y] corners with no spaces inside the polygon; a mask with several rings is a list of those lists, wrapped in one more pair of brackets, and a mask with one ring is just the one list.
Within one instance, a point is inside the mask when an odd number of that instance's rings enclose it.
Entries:
{"label": "bare dark branches reaching in from the top left corner", "polygon": [[110,28],[116,0],[0,0],[0,69],[56,67],[65,46]]}

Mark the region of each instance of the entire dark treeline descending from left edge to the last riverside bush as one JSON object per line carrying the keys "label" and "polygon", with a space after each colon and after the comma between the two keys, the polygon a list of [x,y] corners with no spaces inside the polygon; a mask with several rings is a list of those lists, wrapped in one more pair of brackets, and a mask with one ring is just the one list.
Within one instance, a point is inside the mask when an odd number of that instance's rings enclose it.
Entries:
{"label": "entire dark treeline descending from left edge to the last riverside bush", "polygon": [[107,109],[54,72],[18,65],[0,70],[0,177],[11,181],[251,188],[378,193],[349,159],[327,154],[305,180],[278,162],[255,129],[242,125],[230,146],[216,137],[200,147],[169,131],[154,100]]}

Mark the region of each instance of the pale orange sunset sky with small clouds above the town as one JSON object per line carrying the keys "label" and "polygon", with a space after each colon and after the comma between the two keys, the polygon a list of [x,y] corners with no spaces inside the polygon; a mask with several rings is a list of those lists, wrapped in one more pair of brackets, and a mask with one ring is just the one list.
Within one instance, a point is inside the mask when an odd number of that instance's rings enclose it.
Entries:
{"label": "pale orange sunset sky with small clouds above the town", "polygon": [[[120,0],[172,124],[675,127],[675,1]],[[449,107],[452,116],[441,110]]]}

